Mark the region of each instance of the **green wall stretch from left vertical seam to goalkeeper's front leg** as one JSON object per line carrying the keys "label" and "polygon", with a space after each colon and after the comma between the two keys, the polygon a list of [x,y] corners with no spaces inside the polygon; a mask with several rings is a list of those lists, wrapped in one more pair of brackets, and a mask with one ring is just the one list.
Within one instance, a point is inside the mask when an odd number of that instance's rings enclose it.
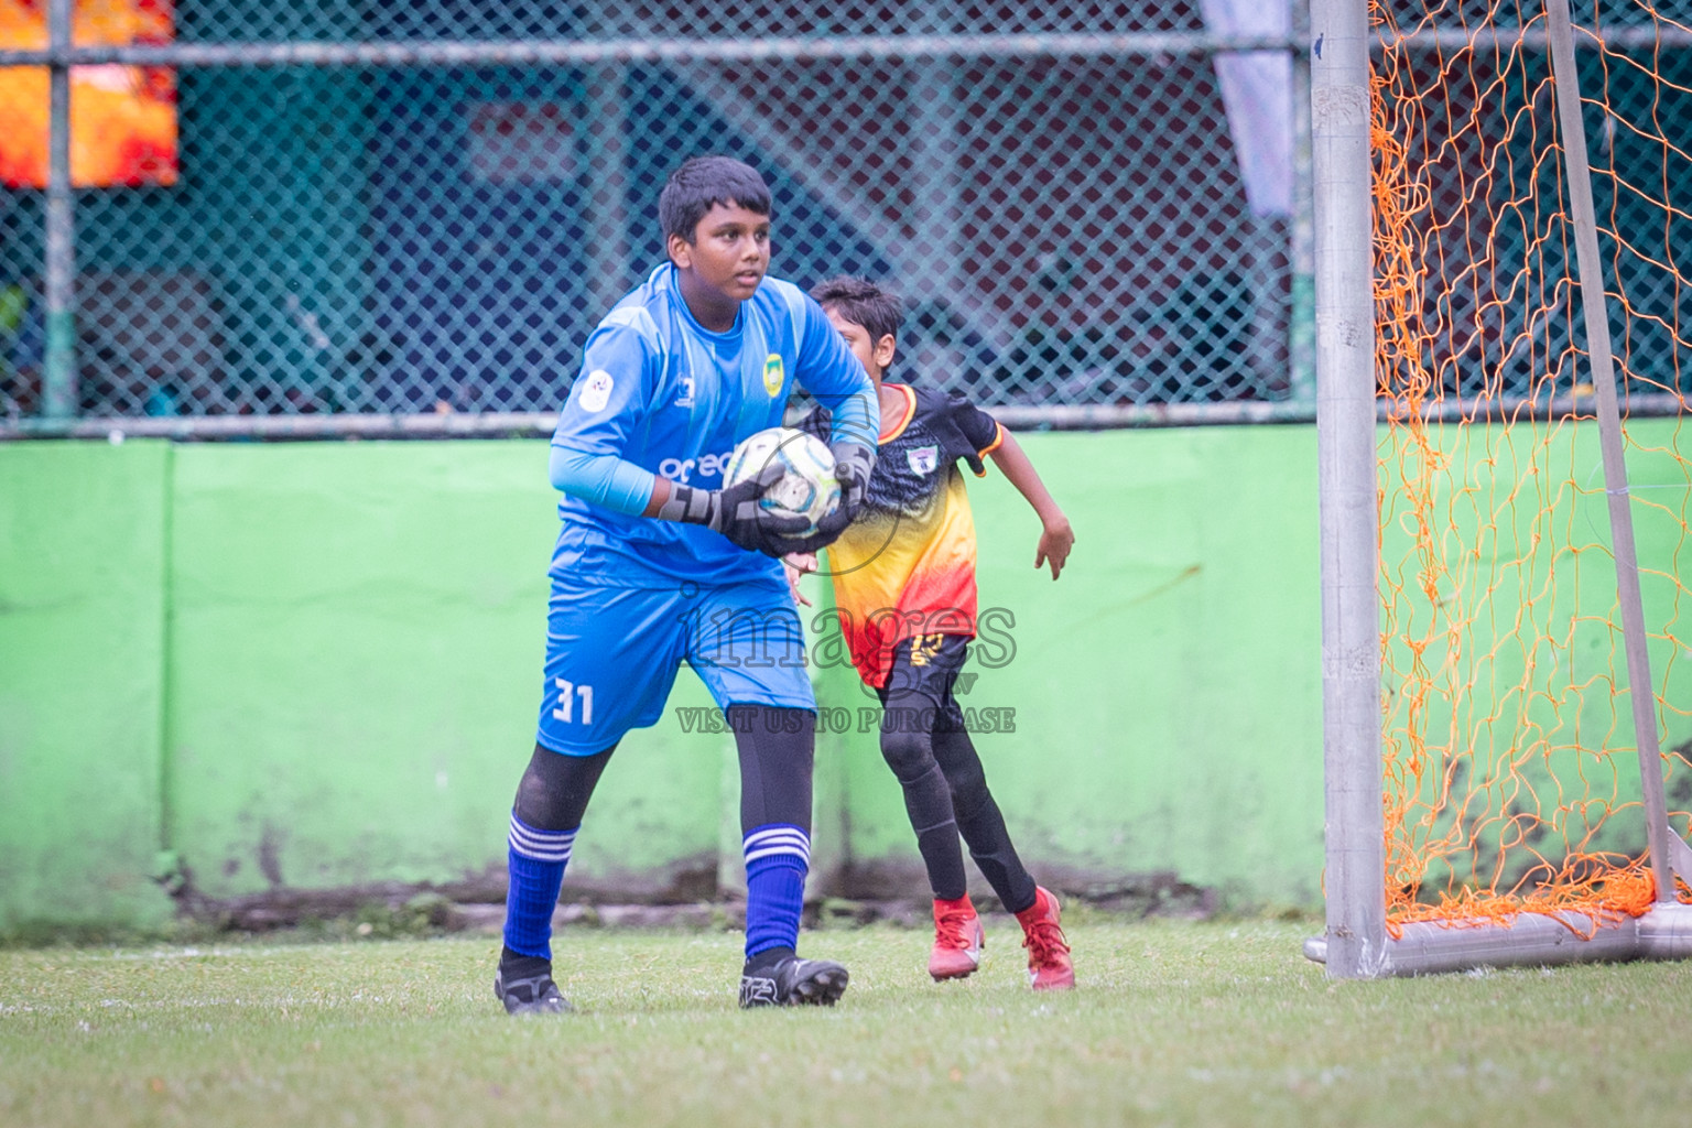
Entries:
{"label": "green wall stretch from left vertical seam to goalkeeper's front leg", "polygon": [[[545,460],[516,441],[178,448],[169,834],[200,891],[503,879],[541,690]],[[692,688],[678,700],[704,704]],[[712,866],[716,744],[663,727],[618,759],[574,876]]]}

